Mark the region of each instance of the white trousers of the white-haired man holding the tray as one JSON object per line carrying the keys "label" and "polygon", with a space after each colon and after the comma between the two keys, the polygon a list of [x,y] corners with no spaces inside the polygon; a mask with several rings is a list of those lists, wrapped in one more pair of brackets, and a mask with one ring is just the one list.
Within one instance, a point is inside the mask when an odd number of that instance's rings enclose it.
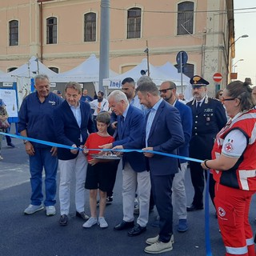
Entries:
{"label": "white trousers of the white-haired man holding the tray", "polygon": [[139,215],[137,223],[139,226],[146,226],[149,219],[150,208],[150,172],[134,171],[130,164],[126,162],[122,170],[122,210],[123,220],[125,222],[134,221],[134,198],[138,193]]}

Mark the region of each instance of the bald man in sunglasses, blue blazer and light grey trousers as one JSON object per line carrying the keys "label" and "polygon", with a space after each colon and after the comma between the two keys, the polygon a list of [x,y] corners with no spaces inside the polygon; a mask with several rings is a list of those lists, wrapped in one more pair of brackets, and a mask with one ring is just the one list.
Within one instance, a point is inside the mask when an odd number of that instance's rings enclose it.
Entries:
{"label": "bald man in sunglasses, blue blazer and light grey trousers", "polygon": [[[183,157],[189,157],[190,138],[192,134],[192,111],[185,103],[179,102],[176,98],[176,85],[174,82],[162,82],[160,86],[161,97],[171,106],[175,106],[182,120],[182,128],[184,132],[185,143],[178,148],[178,154]],[[173,203],[174,210],[178,215],[178,231],[185,232],[188,230],[186,222],[186,190],[185,190],[185,173],[187,168],[187,160],[180,159],[180,167],[178,173],[174,176],[173,181]]]}

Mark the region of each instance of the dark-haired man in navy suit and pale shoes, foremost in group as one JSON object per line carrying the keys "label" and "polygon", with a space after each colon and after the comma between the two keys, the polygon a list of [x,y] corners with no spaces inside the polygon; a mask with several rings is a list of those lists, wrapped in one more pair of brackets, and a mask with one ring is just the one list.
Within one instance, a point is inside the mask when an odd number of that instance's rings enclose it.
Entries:
{"label": "dark-haired man in navy suit and pale shoes, foremost in group", "polygon": [[[178,110],[159,96],[154,82],[142,82],[138,98],[150,109],[146,118],[146,147],[168,154],[178,154],[177,149],[184,143],[182,122]],[[159,234],[146,239],[145,252],[159,254],[173,249],[173,206],[171,202],[174,174],[178,173],[178,159],[160,154],[144,153],[150,166],[150,180],[154,202],[159,214]]]}

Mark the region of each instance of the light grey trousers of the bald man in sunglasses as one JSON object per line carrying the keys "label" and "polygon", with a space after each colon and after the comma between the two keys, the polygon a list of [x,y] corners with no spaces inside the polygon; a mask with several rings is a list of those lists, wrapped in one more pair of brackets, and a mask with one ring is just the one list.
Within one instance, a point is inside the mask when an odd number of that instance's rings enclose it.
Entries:
{"label": "light grey trousers of the bald man in sunglasses", "polygon": [[186,219],[186,190],[185,190],[185,173],[187,162],[181,163],[181,169],[174,176],[172,201],[174,210],[178,215],[178,219]]}

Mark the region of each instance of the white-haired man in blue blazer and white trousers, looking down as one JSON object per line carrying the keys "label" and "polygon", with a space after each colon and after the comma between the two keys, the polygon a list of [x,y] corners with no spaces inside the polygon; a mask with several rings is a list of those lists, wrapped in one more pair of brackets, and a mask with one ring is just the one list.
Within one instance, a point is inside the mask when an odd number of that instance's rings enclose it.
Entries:
{"label": "white-haired man in blue blazer and white trousers, looking down", "polygon": [[[108,101],[118,116],[118,140],[106,144],[102,148],[109,149],[142,149],[142,137],[145,116],[142,110],[131,106],[120,90],[114,90]],[[122,222],[114,226],[114,230],[125,230],[134,226],[134,198],[138,191],[139,215],[137,224],[128,232],[136,236],[146,231],[150,204],[150,174],[146,170],[146,159],[138,152],[127,152],[122,157]]]}

